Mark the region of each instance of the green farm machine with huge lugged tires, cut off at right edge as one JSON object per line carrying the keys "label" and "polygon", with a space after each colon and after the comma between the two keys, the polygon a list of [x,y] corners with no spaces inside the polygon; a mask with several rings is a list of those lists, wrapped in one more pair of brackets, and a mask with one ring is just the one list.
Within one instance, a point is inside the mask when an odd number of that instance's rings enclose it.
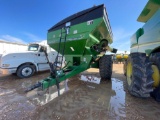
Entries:
{"label": "green farm machine with huge lugged tires, cut off at right edge", "polygon": [[145,24],[131,37],[124,64],[128,90],[134,96],[152,95],[160,101],[160,0],[149,0],[138,21]]}

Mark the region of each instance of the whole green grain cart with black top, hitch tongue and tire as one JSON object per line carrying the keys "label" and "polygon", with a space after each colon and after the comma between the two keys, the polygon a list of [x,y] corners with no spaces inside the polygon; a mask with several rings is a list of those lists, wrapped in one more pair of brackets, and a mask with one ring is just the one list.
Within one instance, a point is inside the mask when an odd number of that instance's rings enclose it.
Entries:
{"label": "whole green grain cart with black top, hitch tongue and tire", "polygon": [[[105,6],[98,5],[71,15],[48,30],[47,42],[50,47],[65,57],[66,66],[57,67],[58,55],[52,65],[51,75],[27,91],[36,87],[42,90],[70,78],[90,67],[100,68],[102,78],[112,75],[112,56],[117,49],[109,45],[113,42],[112,30]],[[58,88],[59,89],[59,88]]]}

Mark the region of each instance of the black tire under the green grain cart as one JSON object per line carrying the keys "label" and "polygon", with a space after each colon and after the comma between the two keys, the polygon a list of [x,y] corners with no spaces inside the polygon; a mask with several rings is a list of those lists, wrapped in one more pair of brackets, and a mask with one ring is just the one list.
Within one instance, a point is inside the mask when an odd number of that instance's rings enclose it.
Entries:
{"label": "black tire under the green grain cart", "polygon": [[112,56],[104,55],[99,60],[99,72],[102,79],[111,79],[112,76]]}

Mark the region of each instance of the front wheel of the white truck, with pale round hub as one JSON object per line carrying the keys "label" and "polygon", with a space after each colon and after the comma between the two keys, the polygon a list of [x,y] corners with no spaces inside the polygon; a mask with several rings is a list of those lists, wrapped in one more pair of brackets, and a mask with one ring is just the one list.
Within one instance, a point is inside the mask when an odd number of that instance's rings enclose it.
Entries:
{"label": "front wheel of the white truck, with pale round hub", "polygon": [[17,76],[20,78],[28,78],[32,76],[35,72],[35,69],[32,65],[22,65],[17,70]]}

